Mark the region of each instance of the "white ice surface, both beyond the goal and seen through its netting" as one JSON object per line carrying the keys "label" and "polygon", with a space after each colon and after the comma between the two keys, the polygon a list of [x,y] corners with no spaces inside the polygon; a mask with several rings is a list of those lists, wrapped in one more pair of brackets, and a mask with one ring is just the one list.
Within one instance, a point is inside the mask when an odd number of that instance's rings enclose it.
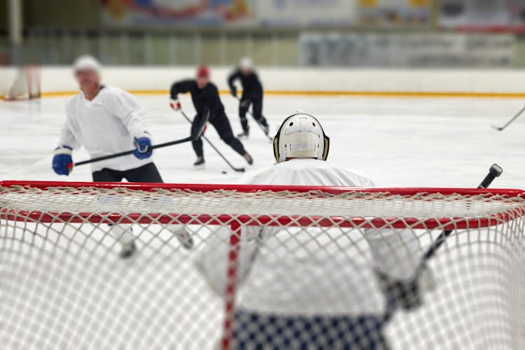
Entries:
{"label": "white ice surface, both beyond the goal and seen through its netting", "polygon": [[[237,134],[240,132],[237,102],[230,96],[221,98]],[[155,143],[188,136],[190,125],[179,113],[169,109],[167,96],[141,95],[138,99],[146,109]],[[189,96],[183,96],[181,102],[188,116],[193,116],[195,111]],[[69,177],[56,176],[51,169],[52,150],[57,146],[59,131],[65,119],[65,103],[66,97],[43,98],[34,102],[0,102],[3,120],[0,179],[90,181],[89,166],[74,169]],[[331,140],[329,161],[368,176],[379,186],[475,187],[490,165],[498,162],[504,173],[493,187],[525,188],[525,164],[522,161],[525,153],[525,139],[522,137],[525,116],[503,132],[491,128],[493,124],[506,123],[523,107],[523,103],[519,99],[267,96],[264,113],[272,132],[283,118],[296,109],[317,116]],[[243,142],[255,158],[253,167],[248,167],[243,158],[223,144],[213,128],[209,128],[207,136],[237,167],[260,169],[271,166],[274,162],[272,146],[253,120],[250,119],[250,123],[251,137]],[[155,151],[154,157],[166,182],[241,181],[241,173],[232,172],[207,144],[204,144],[204,152],[207,160],[205,169],[194,169],[195,155],[190,144],[163,148]],[[83,150],[73,153],[73,160],[87,158],[89,156]],[[223,171],[228,173],[222,174]],[[146,232],[140,238],[141,254],[131,263],[135,268],[128,269],[130,266],[118,260],[115,241],[102,239],[102,231],[108,228],[103,225],[93,229],[90,225],[83,225],[81,229],[68,227],[64,232],[62,228],[57,228],[57,232],[43,231],[45,239],[60,241],[67,247],[79,239],[85,239],[88,244],[99,244],[102,248],[107,244],[108,247],[104,248],[107,250],[102,250],[104,259],[78,260],[78,256],[83,255],[69,254],[67,250],[62,260],[46,260],[47,255],[42,251],[39,251],[41,255],[35,255],[36,258],[20,259],[20,251],[25,248],[17,244],[22,244],[22,241],[4,240],[3,244],[10,248],[12,254],[3,255],[3,263],[0,264],[0,275],[6,281],[6,290],[9,292],[3,295],[6,303],[2,304],[4,312],[0,314],[11,311],[11,318],[0,322],[3,344],[40,349],[52,349],[57,344],[64,348],[87,347],[83,346],[86,344],[99,348],[110,348],[109,344],[113,347],[134,344],[137,349],[160,348],[166,344],[179,344],[181,349],[212,348],[210,344],[216,344],[221,330],[221,314],[214,311],[222,309],[221,301],[204,286],[204,281],[193,266],[194,262],[186,258],[188,253],[177,250],[176,242],[174,246],[166,243],[171,237],[169,232],[164,232],[169,237],[160,237],[165,241],[155,241],[149,236],[151,232]],[[19,229],[26,228],[20,226]],[[34,236],[36,238],[31,237],[27,235],[26,239],[39,239],[38,235]],[[200,238],[204,240],[205,237]],[[485,238],[472,230],[464,239],[482,241]],[[153,243],[145,248],[145,242],[149,239]],[[449,239],[449,242],[451,247],[456,244],[454,239]],[[36,246],[39,244],[43,246],[37,241]],[[158,246],[155,244],[167,248],[167,253],[157,253],[155,249]],[[61,245],[56,243],[55,246]],[[55,249],[55,246],[51,248]],[[85,249],[88,251],[88,248],[90,246]],[[470,252],[473,248],[467,244],[464,249]],[[393,326],[388,330],[394,349],[408,349],[410,346],[407,344],[442,344],[442,349],[471,349],[472,346],[465,344],[475,343],[476,339],[482,339],[481,344],[496,344],[500,341],[484,334],[484,327],[491,327],[492,323],[482,321],[488,317],[496,320],[494,327],[505,324],[499,322],[496,312],[504,307],[499,304],[487,307],[483,304],[482,310],[486,312],[477,313],[479,299],[475,293],[479,289],[469,287],[465,290],[472,295],[454,295],[461,286],[470,286],[469,283],[478,277],[484,278],[484,281],[498,281],[496,275],[512,272],[512,268],[507,268],[509,264],[505,259],[494,262],[492,269],[486,267],[486,261],[491,256],[498,258],[507,255],[490,244],[484,249],[496,253],[481,253],[479,257],[475,254],[463,256],[461,250],[454,253],[452,248],[447,247],[447,254],[433,260],[430,267],[436,273],[440,288],[429,298],[437,302],[427,303],[428,307],[414,316],[396,316]],[[479,250],[483,251],[482,248]],[[179,251],[179,254],[173,254],[173,251]],[[451,265],[451,261],[456,262],[456,265]],[[442,268],[450,266],[453,267]],[[180,273],[174,273],[176,271]],[[489,273],[490,276],[487,275]],[[40,274],[57,278],[48,281]],[[178,278],[181,275],[185,277],[185,283],[179,286]],[[465,279],[463,276],[472,277]],[[71,280],[76,282],[72,283]],[[505,296],[498,289],[498,283],[490,282],[489,287],[490,293]],[[182,294],[174,295],[174,290]],[[487,290],[483,290],[483,293],[486,295]],[[190,311],[183,309],[183,302],[188,300],[184,297],[188,295],[194,302]],[[123,304],[114,304],[113,299],[123,301]],[[439,300],[453,300],[456,304],[448,305],[447,314],[442,309],[444,304]],[[469,303],[469,300],[472,302]],[[145,315],[145,310],[152,305],[162,306],[155,309],[162,311]],[[73,307],[76,316],[71,317],[66,312],[70,307]],[[59,314],[55,317],[57,312]],[[461,318],[465,314],[469,315],[466,321]],[[446,325],[440,325],[443,318],[436,315],[443,315],[455,322],[447,321]],[[182,323],[185,320],[186,323]],[[423,324],[421,320],[428,323]],[[170,328],[172,324],[190,324],[191,327],[183,330],[186,335],[184,339],[174,339],[175,333]],[[480,324],[484,327],[474,327]],[[65,325],[70,326],[67,332]],[[418,327],[421,332],[411,333],[411,337],[395,337],[396,334],[407,335],[406,330]],[[451,329],[457,332],[452,334],[449,331]],[[471,329],[475,329],[475,332],[469,332]],[[162,332],[158,336],[153,330]],[[93,334],[101,335],[101,338],[91,339]],[[202,338],[204,343],[195,343],[194,339],[202,334],[207,335]],[[499,333],[496,332],[496,335]],[[109,340],[102,342],[102,336],[107,336]],[[488,339],[486,343],[483,342],[484,337]],[[10,342],[6,339],[10,339]],[[419,347],[423,348],[430,346]]]}

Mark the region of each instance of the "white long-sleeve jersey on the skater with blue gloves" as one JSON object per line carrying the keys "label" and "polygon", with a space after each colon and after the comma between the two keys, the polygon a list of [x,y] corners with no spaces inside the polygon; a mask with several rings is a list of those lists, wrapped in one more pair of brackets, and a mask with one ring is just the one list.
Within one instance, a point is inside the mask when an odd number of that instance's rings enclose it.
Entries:
{"label": "white long-sleeve jersey on the skater with blue gloves", "polygon": [[[84,146],[91,158],[111,155],[134,148],[134,138],[146,132],[144,110],[132,94],[118,87],[105,86],[92,101],[83,92],[71,97],[66,105],[66,123],[59,147]],[[152,162],[134,155],[94,162],[92,172],[108,168],[124,171]]]}

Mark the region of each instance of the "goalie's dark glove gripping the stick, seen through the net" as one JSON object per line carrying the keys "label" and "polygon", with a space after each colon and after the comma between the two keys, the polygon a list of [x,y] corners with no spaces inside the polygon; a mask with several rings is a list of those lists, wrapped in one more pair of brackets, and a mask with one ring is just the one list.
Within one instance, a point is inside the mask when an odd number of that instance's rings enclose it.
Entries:
{"label": "goalie's dark glove gripping the stick, seen through the net", "polygon": [[383,291],[388,304],[395,304],[405,310],[414,310],[423,304],[423,292],[434,288],[430,269],[424,265],[413,279],[408,281],[392,279],[388,274],[375,269],[379,288]]}

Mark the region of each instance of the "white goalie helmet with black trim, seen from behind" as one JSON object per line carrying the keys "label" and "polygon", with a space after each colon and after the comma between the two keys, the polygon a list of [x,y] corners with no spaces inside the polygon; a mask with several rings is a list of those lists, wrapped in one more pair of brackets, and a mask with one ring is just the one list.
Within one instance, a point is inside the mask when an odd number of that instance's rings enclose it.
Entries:
{"label": "white goalie helmet with black trim, seen from behind", "polygon": [[319,121],[308,113],[297,112],[286,118],[274,137],[276,162],[288,158],[326,160],[330,138]]}

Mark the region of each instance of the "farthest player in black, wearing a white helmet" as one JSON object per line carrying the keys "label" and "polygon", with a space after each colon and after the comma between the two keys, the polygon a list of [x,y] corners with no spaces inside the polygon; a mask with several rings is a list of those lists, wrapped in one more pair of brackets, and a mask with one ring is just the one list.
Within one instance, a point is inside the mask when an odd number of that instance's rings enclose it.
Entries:
{"label": "farthest player in black, wearing a white helmet", "polygon": [[241,118],[242,133],[237,136],[248,137],[249,127],[246,112],[250,105],[253,105],[253,118],[262,126],[265,134],[268,134],[269,126],[265,117],[262,116],[262,85],[257,73],[253,71],[251,59],[248,57],[241,59],[239,67],[235,69],[228,78],[230,93],[237,98],[237,87],[235,87],[234,84],[235,80],[241,80],[242,85],[241,103],[239,104],[239,118]]}

